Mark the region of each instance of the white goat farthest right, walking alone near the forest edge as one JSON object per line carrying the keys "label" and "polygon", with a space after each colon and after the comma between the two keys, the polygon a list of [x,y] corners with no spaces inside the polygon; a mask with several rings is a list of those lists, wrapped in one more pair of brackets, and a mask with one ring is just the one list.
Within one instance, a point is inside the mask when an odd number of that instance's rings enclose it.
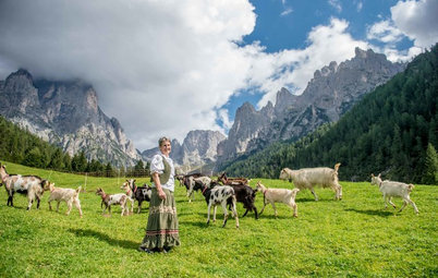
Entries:
{"label": "white goat farthest right, walking alone near the forest edge", "polygon": [[391,202],[391,198],[402,197],[403,206],[400,208],[399,213],[401,213],[407,204],[411,204],[412,207],[414,207],[415,214],[418,214],[418,208],[410,197],[410,193],[414,189],[414,184],[412,183],[406,184],[403,182],[389,181],[389,180],[382,181],[380,179],[380,176],[381,174],[379,173],[379,176],[375,177],[372,173],[372,185],[379,185],[379,190],[384,194],[385,208],[388,208],[388,202],[393,206],[393,208],[396,208],[396,205]]}

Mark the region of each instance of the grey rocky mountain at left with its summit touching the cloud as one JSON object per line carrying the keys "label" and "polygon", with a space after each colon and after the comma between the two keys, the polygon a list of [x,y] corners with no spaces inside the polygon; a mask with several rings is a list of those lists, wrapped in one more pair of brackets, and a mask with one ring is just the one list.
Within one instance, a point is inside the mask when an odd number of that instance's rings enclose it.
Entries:
{"label": "grey rocky mountain at left with its summit touching the cloud", "polygon": [[96,90],[81,81],[35,80],[26,70],[0,83],[0,113],[73,155],[132,166],[141,159],[120,122],[98,106]]}

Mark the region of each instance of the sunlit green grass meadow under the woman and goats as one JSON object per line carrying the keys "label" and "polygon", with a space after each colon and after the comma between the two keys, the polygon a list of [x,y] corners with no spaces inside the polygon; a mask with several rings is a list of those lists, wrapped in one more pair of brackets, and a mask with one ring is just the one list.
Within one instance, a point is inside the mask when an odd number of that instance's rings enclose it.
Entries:
{"label": "sunlit green grass meadow under the woman and goats", "polygon": [[[8,164],[8,171],[49,178],[57,186],[83,185],[83,176],[65,174]],[[368,182],[341,182],[343,200],[333,201],[329,190],[317,190],[315,202],[308,191],[296,198],[299,218],[279,204],[279,217],[268,206],[258,220],[250,213],[221,228],[218,221],[206,226],[207,206],[200,193],[187,203],[185,188],[177,186],[177,206],[182,245],[169,254],[136,251],[147,221],[142,214],[104,217],[98,186],[119,193],[122,179],[88,178],[77,209],[64,215],[48,209],[48,192],[40,209],[15,194],[15,207],[7,207],[0,194],[0,277],[437,277],[438,186],[416,185],[412,206],[402,213],[385,210],[378,188]],[[138,179],[137,183],[147,179]],[[257,180],[253,179],[255,186]],[[261,180],[270,188],[292,188],[279,180]],[[261,209],[263,197],[256,206]],[[400,206],[401,200],[394,200]],[[147,205],[144,205],[147,207]],[[243,215],[242,204],[238,204]]]}

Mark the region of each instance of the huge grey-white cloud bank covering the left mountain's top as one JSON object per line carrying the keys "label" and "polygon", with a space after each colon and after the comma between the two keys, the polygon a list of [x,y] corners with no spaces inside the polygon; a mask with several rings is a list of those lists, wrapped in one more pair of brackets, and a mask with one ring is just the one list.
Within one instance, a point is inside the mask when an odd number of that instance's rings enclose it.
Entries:
{"label": "huge grey-white cloud bank covering the left mountain's top", "polygon": [[[162,134],[220,130],[216,110],[244,86],[240,41],[255,26],[246,0],[0,2],[1,73],[81,77],[137,148]],[[4,78],[4,76],[0,76]]]}

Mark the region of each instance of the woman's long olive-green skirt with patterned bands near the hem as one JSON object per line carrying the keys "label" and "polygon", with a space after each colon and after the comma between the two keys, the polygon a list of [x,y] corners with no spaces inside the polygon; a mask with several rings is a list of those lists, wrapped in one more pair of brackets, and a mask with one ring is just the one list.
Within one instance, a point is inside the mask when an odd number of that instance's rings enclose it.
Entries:
{"label": "woman's long olive-green skirt with patterned bands near the hem", "polygon": [[178,231],[177,204],[173,192],[163,189],[166,200],[158,196],[157,189],[153,189],[147,219],[146,235],[141,247],[153,250],[180,245]]}

